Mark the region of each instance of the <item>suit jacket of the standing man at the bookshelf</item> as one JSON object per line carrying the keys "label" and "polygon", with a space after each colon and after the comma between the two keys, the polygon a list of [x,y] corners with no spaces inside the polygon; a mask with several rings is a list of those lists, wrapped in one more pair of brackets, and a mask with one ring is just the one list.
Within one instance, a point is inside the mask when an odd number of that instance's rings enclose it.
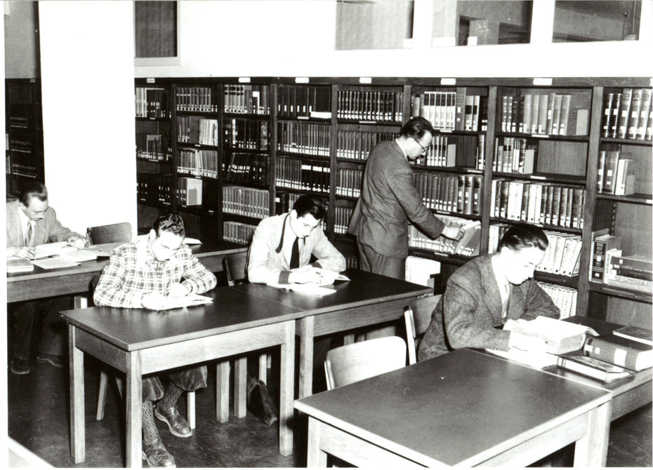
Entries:
{"label": "suit jacket of the standing man at the bookshelf", "polygon": [[349,233],[376,253],[408,256],[408,221],[437,237],[444,224],[422,202],[413,170],[395,140],[379,142],[367,159],[361,197],[349,224]]}

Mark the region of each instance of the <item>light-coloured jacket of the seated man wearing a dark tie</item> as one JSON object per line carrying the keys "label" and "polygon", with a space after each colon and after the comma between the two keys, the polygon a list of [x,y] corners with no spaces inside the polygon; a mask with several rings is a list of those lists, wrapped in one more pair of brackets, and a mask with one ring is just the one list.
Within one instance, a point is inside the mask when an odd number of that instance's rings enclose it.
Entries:
{"label": "light-coloured jacket of the seated man wearing a dark tie", "polygon": [[[249,282],[288,283],[290,266],[281,248],[288,216],[289,213],[273,215],[261,220],[256,227],[247,253]],[[315,266],[338,272],[345,270],[345,257],[326,239],[319,225],[304,238],[299,250],[299,266],[308,264],[311,255],[317,258]]]}

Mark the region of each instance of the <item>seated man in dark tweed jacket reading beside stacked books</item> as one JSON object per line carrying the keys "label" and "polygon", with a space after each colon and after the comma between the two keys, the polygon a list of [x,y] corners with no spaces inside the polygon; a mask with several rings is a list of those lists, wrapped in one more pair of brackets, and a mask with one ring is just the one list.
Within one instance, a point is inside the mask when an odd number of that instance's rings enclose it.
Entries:
{"label": "seated man in dark tweed jacket reading beside stacked books", "polygon": [[502,329],[509,318],[559,318],[558,307],[533,279],[547,246],[541,229],[517,224],[506,231],[495,253],[457,269],[433,311],[418,360],[463,347],[507,351],[524,345],[521,335]]}

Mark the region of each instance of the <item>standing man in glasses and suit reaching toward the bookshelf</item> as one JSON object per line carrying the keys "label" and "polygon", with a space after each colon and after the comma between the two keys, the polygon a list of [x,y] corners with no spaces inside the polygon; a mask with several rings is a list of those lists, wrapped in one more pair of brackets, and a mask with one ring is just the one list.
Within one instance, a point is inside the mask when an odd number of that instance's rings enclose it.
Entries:
{"label": "standing man in glasses and suit reaching toward the bookshelf", "polygon": [[414,117],[397,139],[379,142],[370,152],[348,229],[357,236],[361,269],[404,278],[409,220],[434,239],[463,236],[459,227],[444,225],[424,206],[415,187],[410,162],[426,153],[431,140],[433,126],[423,117]]}

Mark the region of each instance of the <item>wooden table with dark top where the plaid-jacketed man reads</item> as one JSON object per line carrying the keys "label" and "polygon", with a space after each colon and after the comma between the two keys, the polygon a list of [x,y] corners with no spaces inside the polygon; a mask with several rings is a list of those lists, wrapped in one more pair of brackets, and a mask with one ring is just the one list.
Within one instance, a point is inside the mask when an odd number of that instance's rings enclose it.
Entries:
{"label": "wooden table with dark top where the plaid-jacketed man reads", "polygon": [[[70,441],[76,464],[85,459],[84,353],[126,374],[126,462],[140,467],[143,375],[280,345],[279,452],[292,453],[294,331],[301,311],[277,302],[260,302],[233,287],[217,288],[208,295],[214,299],[212,304],[187,309],[92,307],[62,312],[69,332]],[[236,362],[236,377],[246,375],[243,364]],[[220,363],[218,377],[219,419],[228,403],[229,377],[228,368],[220,368]],[[239,394],[235,403],[244,403],[244,387],[235,389]]]}

